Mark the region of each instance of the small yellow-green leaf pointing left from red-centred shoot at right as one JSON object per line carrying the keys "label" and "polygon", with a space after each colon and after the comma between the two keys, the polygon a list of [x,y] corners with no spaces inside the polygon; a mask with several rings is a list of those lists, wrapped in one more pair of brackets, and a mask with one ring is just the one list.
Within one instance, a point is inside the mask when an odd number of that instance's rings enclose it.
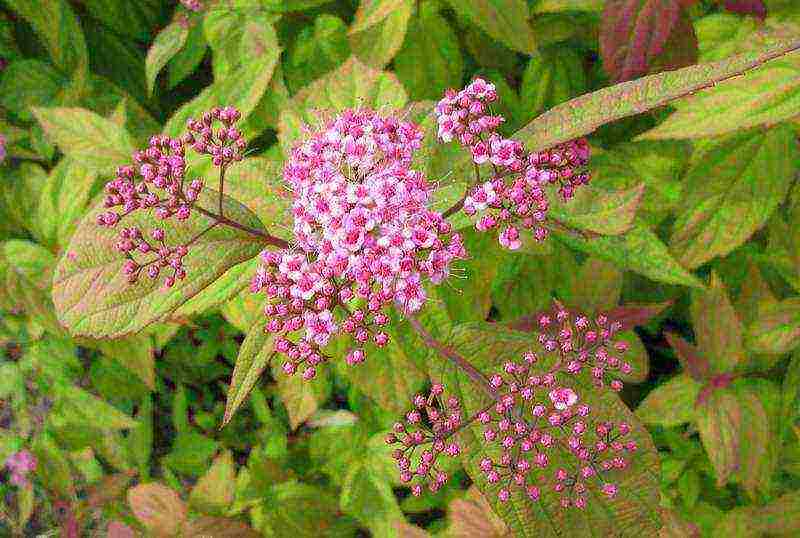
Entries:
{"label": "small yellow-green leaf pointing left from red-centred shoot at right", "polygon": [[645,424],[665,428],[691,422],[700,387],[688,374],[677,375],[651,390],[636,408],[636,416]]}

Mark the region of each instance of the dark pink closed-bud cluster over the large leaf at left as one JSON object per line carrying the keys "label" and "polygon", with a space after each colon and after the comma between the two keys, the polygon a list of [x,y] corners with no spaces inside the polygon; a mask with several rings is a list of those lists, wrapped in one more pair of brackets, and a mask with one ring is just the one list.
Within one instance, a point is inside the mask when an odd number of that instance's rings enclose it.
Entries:
{"label": "dark pink closed-bud cluster over the large leaf at left", "polygon": [[[119,167],[106,184],[108,211],[97,216],[97,224],[115,227],[137,211],[150,211],[162,221],[188,219],[204,185],[202,179],[187,178],[186,148],[211,155],[220,167],[241,160],[246,144],[233,125],[239,118],[232,107],[214,108],[199,121],[190,119],[180,138],[153,136],[146,149],[133,154],[134,164]],[[215,132],[216,122],[221,126]],[[169,246],[165,235],[161,228],[147,234],[137,226],[119,232],[116,248],[127,258],[123,272],[130,283],[137,282],[142,273],[155,280],[165,269],[171,270],[164,279],[165,288],[186,277],[183,258],[190,243]]]}

